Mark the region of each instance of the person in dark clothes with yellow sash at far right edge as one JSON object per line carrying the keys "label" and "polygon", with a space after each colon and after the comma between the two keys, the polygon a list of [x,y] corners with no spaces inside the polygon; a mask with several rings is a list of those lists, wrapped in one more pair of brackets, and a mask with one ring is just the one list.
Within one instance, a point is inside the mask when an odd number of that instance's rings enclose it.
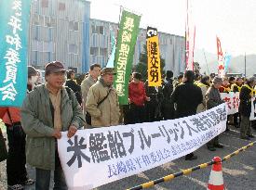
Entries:
{"label": "person in dark clothes with yellow sash at far right edge", "polygon": [[251,77],[249,78],[248,82],[243,85],[241,88],[241,92],[239,95],[240,98],[240,105],[239,105],[239,112],[241,116],[241,131],[240,137],[242,139],[253,138],[254,136],[251,133],[250,125],[251,122],[249,121],[249,115],[251,111],[251,98],[254,97],[254,86],[256,83],[256,78]]}

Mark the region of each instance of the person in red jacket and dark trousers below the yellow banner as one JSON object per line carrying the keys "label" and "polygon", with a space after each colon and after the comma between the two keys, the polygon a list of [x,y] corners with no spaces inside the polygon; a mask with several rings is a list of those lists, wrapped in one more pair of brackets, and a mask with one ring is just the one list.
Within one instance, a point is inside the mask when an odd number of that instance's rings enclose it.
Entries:
{"label": "person in red jacket and dark trousers below the yellow banner", "polygon": [[132,81],[128,83],[128,101],[130,104],[129,124],[145,121],[145,101],[150,101],[146,95],[144,83],[141,82],[141,73],[133,72]]}

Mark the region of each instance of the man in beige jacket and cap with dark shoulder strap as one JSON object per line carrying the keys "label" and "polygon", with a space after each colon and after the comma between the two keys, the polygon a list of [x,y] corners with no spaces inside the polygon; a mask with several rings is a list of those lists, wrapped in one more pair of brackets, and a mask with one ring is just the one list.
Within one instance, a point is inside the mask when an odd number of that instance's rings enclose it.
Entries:
{"label": "man in beige jacket and cap with dark shoulder strap", "polygon": [[113,88],[114,75],[113,68],[104,68],[101,70],[101,79],[88,91],[86,108],[91,116],[92,127],[119,124],[120,111],[118,97]]}

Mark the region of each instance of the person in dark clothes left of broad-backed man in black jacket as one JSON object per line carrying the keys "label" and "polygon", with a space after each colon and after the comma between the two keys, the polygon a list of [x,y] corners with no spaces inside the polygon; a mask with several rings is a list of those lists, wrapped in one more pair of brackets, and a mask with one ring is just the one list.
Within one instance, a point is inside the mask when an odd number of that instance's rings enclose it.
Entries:
{"label": "person in dark clothes left of broad-backed man in black jacket", "polygon": [[170,96],[173,92],[173,72],[171,70],[167,70],[166,82],[163,86],[163,116],[164,120],[172,120],[174,119],[174,106],[170,102]]}

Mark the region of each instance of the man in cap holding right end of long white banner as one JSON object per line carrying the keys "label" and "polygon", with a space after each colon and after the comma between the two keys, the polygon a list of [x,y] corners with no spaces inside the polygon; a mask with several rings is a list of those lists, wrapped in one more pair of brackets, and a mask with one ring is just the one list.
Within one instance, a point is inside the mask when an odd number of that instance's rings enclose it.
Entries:
{"label": "man in cap holding right end of long white banner", "polygon": [[[222,86],[222,78],[220,77],[214,77],[212,80],[212,84],[209,87],[206,98],[207,98],[207,109],[217,107],[224,103],[224,101],[221,98],[221,94],[219,91],[219,88]],[[210,151],[215,151],[216,148],[222,148],[223,145],[219,143],[219,137],[216,136],[212,140],[207,143],[207,147]]]}

